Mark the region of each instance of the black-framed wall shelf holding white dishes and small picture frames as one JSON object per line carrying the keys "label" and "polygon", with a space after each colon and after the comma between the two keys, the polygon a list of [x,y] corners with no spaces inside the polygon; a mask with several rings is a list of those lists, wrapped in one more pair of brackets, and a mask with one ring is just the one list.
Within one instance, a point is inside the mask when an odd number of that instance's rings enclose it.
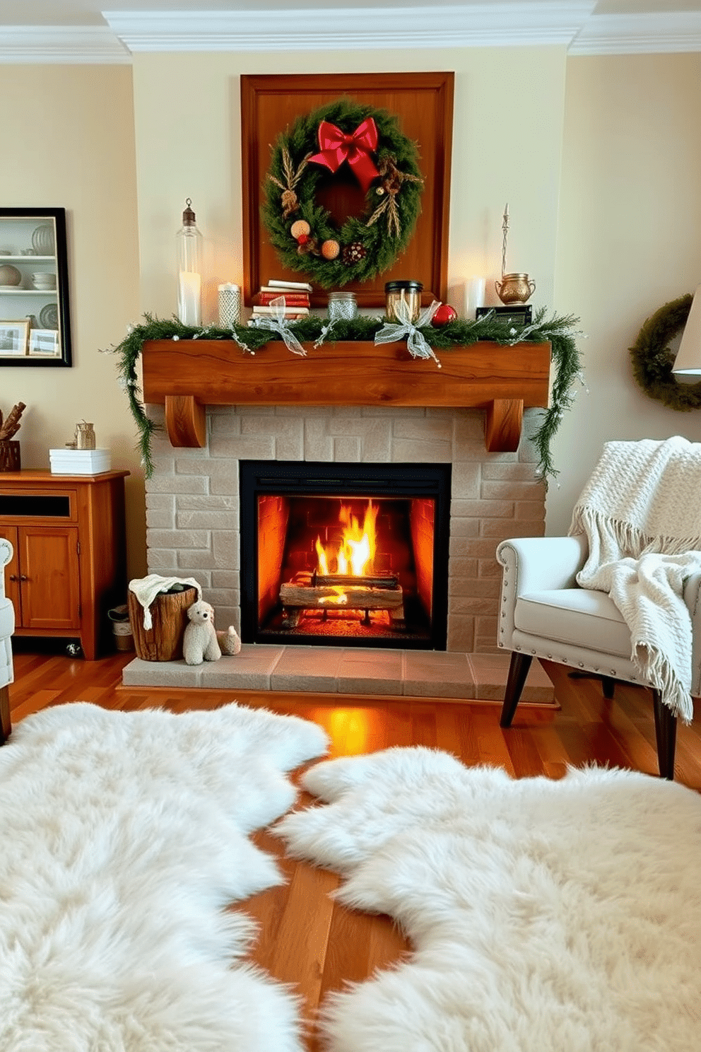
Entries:
{"label": "black-framed wall shelf holding white dishes and small picture frames", "polygon": [[0,368],[70,364],[65,208],[0,208]]}

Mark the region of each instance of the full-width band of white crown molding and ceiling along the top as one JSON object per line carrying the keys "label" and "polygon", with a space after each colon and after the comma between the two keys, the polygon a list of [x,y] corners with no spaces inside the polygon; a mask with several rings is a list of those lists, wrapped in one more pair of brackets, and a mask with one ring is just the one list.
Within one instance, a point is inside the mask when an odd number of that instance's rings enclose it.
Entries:
{"label": "full-width band of white crown molding and ceiling along the top", "polygon": [[[517,44],[565,44],[572,55],[701,52],[701,0],[118,2],[119,9],[106,9],[104,0],[0,0],[0,62],[130,62],[136,52]],[[274,17],[266,19],[266,12]]]}

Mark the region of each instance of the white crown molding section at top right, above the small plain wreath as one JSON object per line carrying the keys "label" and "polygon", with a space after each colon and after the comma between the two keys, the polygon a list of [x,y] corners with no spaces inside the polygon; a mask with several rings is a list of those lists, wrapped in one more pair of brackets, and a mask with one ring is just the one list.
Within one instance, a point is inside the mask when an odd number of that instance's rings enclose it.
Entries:
{"label": "white crown molding section at top right, above the small plain wreath", "polygon": [[701,12],[664,15],[595,15],[570,55],[654,55],[701,50]]}

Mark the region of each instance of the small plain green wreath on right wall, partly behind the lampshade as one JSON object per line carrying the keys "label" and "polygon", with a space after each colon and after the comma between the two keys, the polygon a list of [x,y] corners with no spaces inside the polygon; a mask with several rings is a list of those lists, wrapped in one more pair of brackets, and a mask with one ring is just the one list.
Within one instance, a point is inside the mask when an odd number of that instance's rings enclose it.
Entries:
{"label": "small plain green wreath on right wall, partly behind the lampshade", "polygon": [[638,339],[631,347],[633,375],[645,394],[682,412],[701,409],[701,382],[678,383],[672,371],[675,355],[669,349],[669,341],[686,324],[692,300],[693,297],[688,295],[665,303],[643,324]]}

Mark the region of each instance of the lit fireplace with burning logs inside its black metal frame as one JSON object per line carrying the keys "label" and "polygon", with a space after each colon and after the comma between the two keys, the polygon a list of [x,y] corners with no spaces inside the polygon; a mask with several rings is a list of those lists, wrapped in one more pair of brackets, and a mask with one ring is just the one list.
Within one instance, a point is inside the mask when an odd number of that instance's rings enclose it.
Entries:
{"label": "lit fireplace with burning logs inside its black metal frame", "polygon": [[450,464],[239,469],[245,643],[446,649]]}

